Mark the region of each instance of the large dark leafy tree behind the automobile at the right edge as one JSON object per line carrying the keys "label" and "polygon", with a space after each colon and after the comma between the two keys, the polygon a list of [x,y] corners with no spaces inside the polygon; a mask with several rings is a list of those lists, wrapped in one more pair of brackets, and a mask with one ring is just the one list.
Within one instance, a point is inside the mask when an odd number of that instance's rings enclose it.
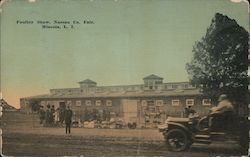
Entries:
{"label": "large dark leafy tree behind the automobile at the right edge", "polygon": [[248,32],[243,27],[216,13],[205,36],[193,46],[193,53],[186,64],[191,83],[201,87],[213,103],[225,93],[237,104],[246,104]]}

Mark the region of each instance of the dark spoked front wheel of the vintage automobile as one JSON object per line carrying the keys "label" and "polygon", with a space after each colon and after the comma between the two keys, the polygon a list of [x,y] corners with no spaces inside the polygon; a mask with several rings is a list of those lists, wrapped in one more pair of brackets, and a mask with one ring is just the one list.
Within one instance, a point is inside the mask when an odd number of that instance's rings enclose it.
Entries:
{"label": "dark spoked front wheel of the vintage automobile", "polygon": [[180,129],[170,130],[166,135],[166,144],[170,151],[183,151],[189,148],[190,142],[187,134]]}

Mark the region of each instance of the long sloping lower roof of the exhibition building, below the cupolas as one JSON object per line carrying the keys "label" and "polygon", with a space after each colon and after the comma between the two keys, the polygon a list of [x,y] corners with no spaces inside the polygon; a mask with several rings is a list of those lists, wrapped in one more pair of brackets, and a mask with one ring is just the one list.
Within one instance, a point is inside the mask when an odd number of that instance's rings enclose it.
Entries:
{"label": "long sloping lower roof of the exhibition building, below the cupolas", "polygon": [[176,89],[166,91],[122,91],[122,92],[101,92],[101,93],[58,93],[27,97],[28,99],[64,99],[64,98],[115,98],[115,97],[161,97],[161,96],[193,96],[201,95],[199,89]]}

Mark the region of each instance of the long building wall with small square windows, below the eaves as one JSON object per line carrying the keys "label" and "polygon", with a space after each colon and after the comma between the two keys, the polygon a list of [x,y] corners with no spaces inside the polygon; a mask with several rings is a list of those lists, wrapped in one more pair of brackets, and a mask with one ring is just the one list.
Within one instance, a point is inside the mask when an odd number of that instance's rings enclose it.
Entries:
{"label": "long building wall with small square windows, below the eaves", "polygon": [[[68,99],[43,99],[40,104],[54,105],[55,109],[60,103],[70,106],[74,119],[84,119],[85,110],[104,110],[111,113],[111,117],[122,117],[125,122],[135,121],[141,126],[163,123],[168,116],[183,117],[184,108],[191,105],[200,115],[207,115],[212,105],[203,105],[205,98],[202,96],[161,96],[161,97],[133,97],[133,98],[68,98]],[[22,100],[23,101],[23,100]],[[178,103],[176,103],[178,102]],[[191,102],[191,103],[190,103]],[[133,119],[134,118],[134,119]],[[157,122],[156,122],[157,121]]]}

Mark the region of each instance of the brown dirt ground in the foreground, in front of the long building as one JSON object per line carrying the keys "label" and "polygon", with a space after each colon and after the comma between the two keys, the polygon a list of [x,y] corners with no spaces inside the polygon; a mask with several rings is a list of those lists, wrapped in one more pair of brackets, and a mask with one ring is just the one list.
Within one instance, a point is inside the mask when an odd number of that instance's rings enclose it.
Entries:
{"label": "brown dirt ground in the foreground, in front of the long building", "polygon": [[170,152],[166,149],[163,136],[157,129],[72,128],[72,134],[65,135],[64,128],[44,128],[39,126],[37,121],[5,119],[3,123],[3,154],[8,156],[236,157],[242,155],[240,147],[235,143],[194,144],[186,152]]}

